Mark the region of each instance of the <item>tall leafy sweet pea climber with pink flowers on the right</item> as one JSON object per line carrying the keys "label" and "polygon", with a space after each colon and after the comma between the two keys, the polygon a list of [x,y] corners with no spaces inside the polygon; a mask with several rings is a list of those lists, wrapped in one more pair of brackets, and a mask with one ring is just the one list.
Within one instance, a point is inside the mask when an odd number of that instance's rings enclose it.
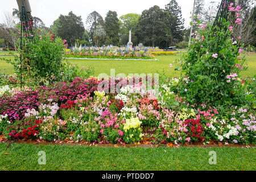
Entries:
{"label": "tall leafy sweet pea climber with pink flowers on the right", "polygon": [[245,56],[240,56],[243,45],[233,44],[229,22],[224,21],[222,28],[209,26],[197,32],[181,59],[189,79],[180,84],[180,93],[191,103],[238,104],[237,76],[246,69]]}

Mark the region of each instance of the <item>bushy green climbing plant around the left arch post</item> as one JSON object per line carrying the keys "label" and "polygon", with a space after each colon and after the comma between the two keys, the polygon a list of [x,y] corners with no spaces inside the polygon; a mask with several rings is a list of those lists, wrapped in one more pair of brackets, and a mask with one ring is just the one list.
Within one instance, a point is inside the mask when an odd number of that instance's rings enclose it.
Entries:
{"label": "bushy green climbing plant around the left arch post", "polygon": [[[18,45],[23,76],[39,82],[60,78],[64,42],[46,32],[38,32],[33,38],[23,38],[23,41],[25,46]],[[14,55],[14,60],[7,62],[13,64],[16,75],[20,77],[20,56]]]}

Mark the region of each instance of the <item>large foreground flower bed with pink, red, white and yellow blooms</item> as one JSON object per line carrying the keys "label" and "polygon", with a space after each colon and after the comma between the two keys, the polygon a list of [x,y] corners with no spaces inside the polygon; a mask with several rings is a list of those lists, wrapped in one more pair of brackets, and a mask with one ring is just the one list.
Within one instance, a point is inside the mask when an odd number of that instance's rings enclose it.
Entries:
{"label": "large foreground flower bed with pink, red, white and yellow blooms", "polygon": [[[134,79],[134,78],[129,78]],[[184,144],[229,142],[255,144],[255,112],[196,105],[175,93],[184,78],[160,84],[160,96],[129,79],[75,78],[38,89],[6,90],[0,97],[0,133],[7,139],[38,142]],[[243,79],[243,84],[255,80]],[[98,90],[99,84],[112,83]],[[152,84],[154,85],[154,84]],[[105,94],[116,87],[113,94]],[[170,104],[171,102],[172,104]]]}

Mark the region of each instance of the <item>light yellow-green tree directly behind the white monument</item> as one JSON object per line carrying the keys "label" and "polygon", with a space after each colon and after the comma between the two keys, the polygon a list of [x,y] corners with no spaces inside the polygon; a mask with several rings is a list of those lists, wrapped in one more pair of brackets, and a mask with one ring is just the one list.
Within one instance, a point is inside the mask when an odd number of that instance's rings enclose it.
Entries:
{"label": "light yellow-green tree directly behind the white monument", "polygon": [[131,37],[134,44],[138,44],[138,39],[135,31],[137,31],[139,17],[141,15],[135,13],[129,13],[120,17],[120,44],[127,43],[129,41],[129,31],[131,30]]}

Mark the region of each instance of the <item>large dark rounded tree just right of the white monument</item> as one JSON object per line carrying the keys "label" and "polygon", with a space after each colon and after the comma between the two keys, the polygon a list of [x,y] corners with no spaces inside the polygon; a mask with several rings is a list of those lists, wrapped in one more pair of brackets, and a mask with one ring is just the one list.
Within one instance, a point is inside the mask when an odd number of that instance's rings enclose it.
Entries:
{"label": "large dark rounded tree just right of the white monument", "polygon": [[[162,42],[166,43],[166,34],[169,29],[168,14],[159,6],[153,6],[149,10],[144,10],[137,28],[139,40],[148,46],[160,46]],[[164,44],[163,43],[163,44]]]}

